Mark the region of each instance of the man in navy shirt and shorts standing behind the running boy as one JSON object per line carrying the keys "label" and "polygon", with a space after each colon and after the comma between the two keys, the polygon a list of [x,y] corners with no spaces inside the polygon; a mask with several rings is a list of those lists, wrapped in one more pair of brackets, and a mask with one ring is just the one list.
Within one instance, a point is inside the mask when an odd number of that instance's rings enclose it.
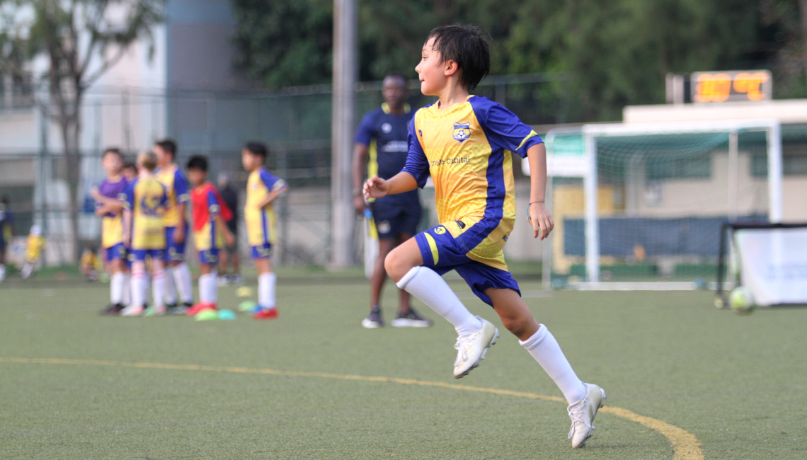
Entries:
{"label": "man in navy shirt and shorts standing behind the running boy", "polygon": [[[387,75],[384,78],[383,95],[385,102],[364,115],[354,140],[353,206],[358,212],[364,212],[368,207],[362,194],[364,179],[374,175],[389,179],[398,174],[406,164],[409,150],[407,134],[409,122],[415,112],[406,103],[409,96],[406,77],[399,74]],[[420,222],[420,198],[415,189],[376,199],[369,207],[378,230],[378,259],[370,281],[370,315],[362,321],[362,326],[380,328],[384,321],[378,303],[384,280],[387,279],[384,258],[395,246],[415,235]],[[398,316],[391,324],[400,328],[425,327],[432,323],[412,309],[409,305],[409,293],[401,289]]]}

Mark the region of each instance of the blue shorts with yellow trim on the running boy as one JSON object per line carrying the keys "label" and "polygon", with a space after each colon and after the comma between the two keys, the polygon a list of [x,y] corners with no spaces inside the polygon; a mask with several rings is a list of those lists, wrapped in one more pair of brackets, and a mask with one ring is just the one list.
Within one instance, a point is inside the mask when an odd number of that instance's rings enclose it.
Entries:
{"label": "blue shorts with yellow trim on the running boy", "polygon": [[429,267],[437,274],[456,270],[468,283],[470,290],[491,307],[493,303],[491,298],[485,295],[486,289],[491,287],[512,289],[521,295],[518,283],[512,278],[510,272],[470,259],[466,255],[468,250],[462,241],[451,236],[444,226],[437,225],[425,232],[420,232],[415,236],[415,240],[420,248],[420,255],[423,256],[423,266]]}

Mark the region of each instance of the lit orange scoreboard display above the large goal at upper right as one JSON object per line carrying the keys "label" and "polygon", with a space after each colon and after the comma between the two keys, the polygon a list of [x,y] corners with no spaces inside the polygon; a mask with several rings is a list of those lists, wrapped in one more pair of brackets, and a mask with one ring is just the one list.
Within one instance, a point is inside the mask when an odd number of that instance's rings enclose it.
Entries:
{"label": "lit orange scoreboard display above the large goal at upper right", "polygon": [[690,77],[692,102],[768,101],[773,96],[770,70],[696,72]]}

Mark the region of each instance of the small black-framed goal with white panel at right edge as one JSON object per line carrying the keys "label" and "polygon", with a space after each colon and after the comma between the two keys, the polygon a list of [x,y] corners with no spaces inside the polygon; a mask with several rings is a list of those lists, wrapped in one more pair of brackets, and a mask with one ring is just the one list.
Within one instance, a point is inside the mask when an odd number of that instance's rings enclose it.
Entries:
{"label": "small black-framed goal with white panel at right edge", "polygon": [[759,307],[807,304],[807,224],[724,224],[715,306],[737,286]]}

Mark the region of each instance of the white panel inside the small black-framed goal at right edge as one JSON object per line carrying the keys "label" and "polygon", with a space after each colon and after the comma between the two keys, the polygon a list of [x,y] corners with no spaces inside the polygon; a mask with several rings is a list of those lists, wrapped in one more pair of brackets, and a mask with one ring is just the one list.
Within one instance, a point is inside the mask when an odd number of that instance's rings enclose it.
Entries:
{"label": "white panel inside the small black-framed goal at right edge", "polygon": [[757,305],[807,303],[807,228],[742,228],[734,244]]}

